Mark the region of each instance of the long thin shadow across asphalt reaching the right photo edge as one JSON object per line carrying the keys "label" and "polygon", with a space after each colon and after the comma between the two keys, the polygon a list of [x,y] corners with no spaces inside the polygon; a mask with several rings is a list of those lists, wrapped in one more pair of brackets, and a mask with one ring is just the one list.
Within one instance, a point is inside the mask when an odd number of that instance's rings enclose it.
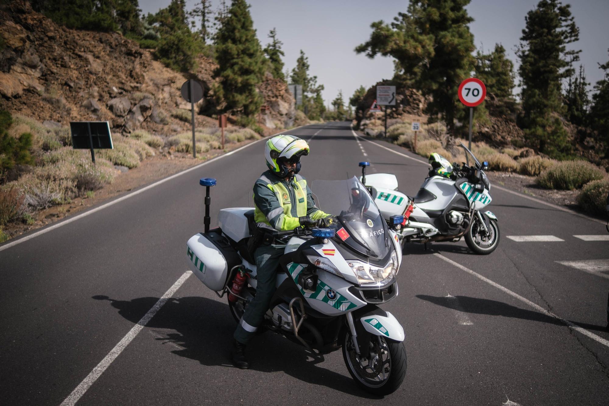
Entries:
{"label": "long thin shadow across asphalt reaching the right photo edge", "polygon": [[[446,298],[444,296],[429,296],[429,295],[417,295],[417,298],[426,300],[438,306],[448,307],[452,310],[459,312],[474,313],[474,314],[485,314],[490,316],[503,316],[519,318],[522,320],[539,321],[541,323],[555,324],[557,326],[565,326],[557,318],[544,315],[534,310],[520,309],[519,307],[512,306],[511,304],[503,303],[496,300],[481,299],[481,298],[470,298],[469,296],[455,296],[454,298]],[[571,321],[571,323],[577,324],[584,329],[595,330],[595,331],[607,331],[605,326],[596,326],[594,324],[579,323],[577,321]]]}

